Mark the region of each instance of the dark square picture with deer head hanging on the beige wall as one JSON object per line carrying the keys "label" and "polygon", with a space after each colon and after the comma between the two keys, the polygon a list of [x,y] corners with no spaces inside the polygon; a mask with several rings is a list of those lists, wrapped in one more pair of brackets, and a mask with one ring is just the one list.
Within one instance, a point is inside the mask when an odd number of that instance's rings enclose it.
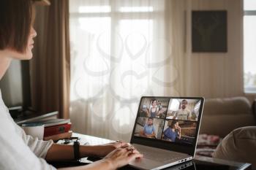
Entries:
{"label": "dark square picture with deer head hanging on the beige wall", "polygon": [[227,52],[227,11],[192,11],[192,52]]}

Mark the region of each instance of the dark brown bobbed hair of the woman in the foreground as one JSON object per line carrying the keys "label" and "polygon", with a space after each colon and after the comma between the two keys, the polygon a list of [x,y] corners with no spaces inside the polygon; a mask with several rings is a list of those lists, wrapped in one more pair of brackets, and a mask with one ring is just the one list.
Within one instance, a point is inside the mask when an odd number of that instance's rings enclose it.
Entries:
{"label": "dark brown bobbed hair of the woman in the foreground", "polygon": [[32,22],[31,0],[0,1],[0,50],[26,50]]}

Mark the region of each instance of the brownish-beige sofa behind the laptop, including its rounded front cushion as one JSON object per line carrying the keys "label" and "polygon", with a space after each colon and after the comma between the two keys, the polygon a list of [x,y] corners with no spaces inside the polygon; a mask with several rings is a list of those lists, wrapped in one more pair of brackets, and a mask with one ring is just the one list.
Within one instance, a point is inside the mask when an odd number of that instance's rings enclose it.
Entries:
{"label": "brownish-beige sofa behind the laptop, including its rounded front cushion", "polygon": [[256,169],[256,102],[243,96],[206,99],[197,155],[252,163]]}

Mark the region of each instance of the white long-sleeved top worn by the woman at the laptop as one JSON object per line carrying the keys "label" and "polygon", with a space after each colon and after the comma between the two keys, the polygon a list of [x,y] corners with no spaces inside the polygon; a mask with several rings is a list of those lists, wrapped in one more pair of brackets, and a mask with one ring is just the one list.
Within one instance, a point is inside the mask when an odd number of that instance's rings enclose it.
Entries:
{"label": "white long-sleeved top worn by the woman at the laptop", "polygon": [[54,170],[44,159],[52,144],[25,134],[12,120],[0,90],[0,169]]}

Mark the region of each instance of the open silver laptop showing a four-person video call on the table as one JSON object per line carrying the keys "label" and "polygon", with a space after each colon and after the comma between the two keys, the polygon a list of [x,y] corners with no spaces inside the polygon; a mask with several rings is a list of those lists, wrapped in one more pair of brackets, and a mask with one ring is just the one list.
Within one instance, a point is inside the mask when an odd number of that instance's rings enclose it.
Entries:
{"label": "open silver laptop showing a four-person video call on the table", "polygon": [[204,98],[140,98],[130,143],[144,156],[129,163],[136,169],[165,169],[192,160]]}

